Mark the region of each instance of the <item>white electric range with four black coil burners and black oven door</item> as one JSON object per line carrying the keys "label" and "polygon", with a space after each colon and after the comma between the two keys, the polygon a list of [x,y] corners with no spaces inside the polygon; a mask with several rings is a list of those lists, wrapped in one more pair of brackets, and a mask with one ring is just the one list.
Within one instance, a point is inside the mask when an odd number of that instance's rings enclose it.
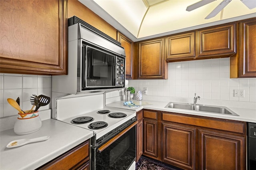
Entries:
{"label": "white electric range with four black coil burners and black oven door", "polygon": [[105,93],[59,97],[52,108],[53,118],[94,132],[91,170],[135,170],[136,111],[106,107]]}

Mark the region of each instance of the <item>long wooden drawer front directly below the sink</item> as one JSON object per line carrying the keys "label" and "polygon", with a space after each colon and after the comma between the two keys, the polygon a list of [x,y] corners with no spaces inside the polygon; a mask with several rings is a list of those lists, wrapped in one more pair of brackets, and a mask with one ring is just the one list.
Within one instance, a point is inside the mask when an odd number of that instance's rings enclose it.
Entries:
{"label": "long wooden drawer front directly below the sink", "polygon": [[238,134],[246,134],[246,123],[240,121],[232,121],[226,119],[214,119],[214,118],[201,118],[201,117],[187,117],[178,114],[172,114],[163,112],[163,121],[171,121],[175,123],[184,123],[188,125],[195,125],[200,127],[214,128],[218,130],[225,130],[229,132],[235,132]]}

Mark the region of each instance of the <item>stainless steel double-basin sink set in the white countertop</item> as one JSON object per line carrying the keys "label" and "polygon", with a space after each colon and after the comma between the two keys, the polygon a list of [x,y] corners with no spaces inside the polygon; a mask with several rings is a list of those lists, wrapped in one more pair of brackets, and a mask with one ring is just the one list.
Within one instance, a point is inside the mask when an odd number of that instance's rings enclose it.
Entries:
{"label": "stainless steel double-basin sink set in the white countertop", "polygon": [[208,112],[208,113],[216,113],[222,115],[233,115],[239,116],[238,114],[234,113],[227,107],[223,106],[211,106],[211,105],[194,105],[190,103],[174,103],[170,102],[166,105],[165,108],[172,108],[172,109],[185,109],[191,111],[199,111],[199,112]]}

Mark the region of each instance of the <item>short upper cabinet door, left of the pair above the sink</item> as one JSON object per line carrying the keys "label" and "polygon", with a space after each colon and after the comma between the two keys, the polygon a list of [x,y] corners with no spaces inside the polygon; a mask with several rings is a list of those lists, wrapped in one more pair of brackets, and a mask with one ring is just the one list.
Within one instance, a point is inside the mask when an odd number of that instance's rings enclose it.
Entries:
{"label": "short upper cabinet door, left of the pair above the sink", "polygon": [[166,37],[166,61],[193,60],[195,57],[195,32]]}

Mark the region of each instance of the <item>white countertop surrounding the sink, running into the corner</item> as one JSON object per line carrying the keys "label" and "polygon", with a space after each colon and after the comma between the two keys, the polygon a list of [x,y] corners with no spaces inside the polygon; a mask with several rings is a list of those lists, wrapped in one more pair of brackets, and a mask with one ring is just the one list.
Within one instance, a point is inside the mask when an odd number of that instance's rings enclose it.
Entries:
{"label": "white countertop surrounding the sink, running into the corner", "polygon": [[[140,107],[131,107],[131,108],[124,106],[124,102],[125,101],[117,101],[114,103],[109,103],[106,106],[118,107],[122,109],[130,109],[136,112],[140,111],[141,109],[152,109],[152,110],[158,110],[158,111],[167,111],[167,112],[174,112],[174,113],[183,113],[188,115],[198,115],[198,116],[205,116],[205,117],[214,117],[214,118],[220,118],[220,119],[230,119],[230,120],[236,120],[236,121],[256,123],[256,108],[246,109],[246,108],[228,107],[228,109],[232,110],[234,113],[239,115],[239,116],[233,116],[233,115],[222,115],[222,114],[216,114],[216,113],[190,111],[185,109],[165,108],[170,101],[165,102],[165,101],[142,100],[142,105],[140,105]],[[138,102],[138,101],[134,100],[134,103],[135,102]],[[144,103],[146,104],[150,103],[151,105],[143,105]]]}

